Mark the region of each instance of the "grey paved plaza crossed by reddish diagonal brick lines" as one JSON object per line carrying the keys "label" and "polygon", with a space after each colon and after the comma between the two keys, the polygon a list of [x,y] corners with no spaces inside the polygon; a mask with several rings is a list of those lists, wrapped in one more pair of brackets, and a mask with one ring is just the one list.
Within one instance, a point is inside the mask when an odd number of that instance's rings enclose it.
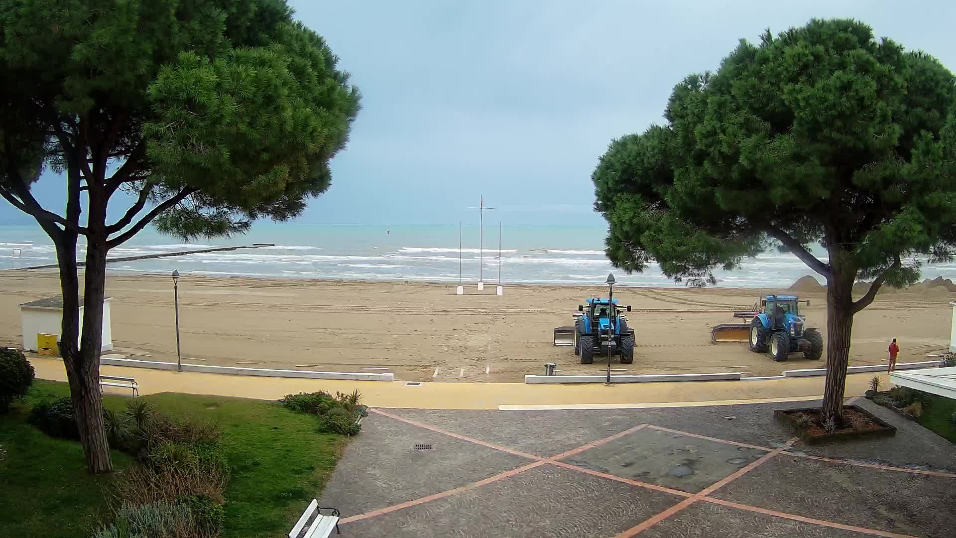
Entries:
{"label": "grey paved plaza crossed by reddish diagonal brick lines", "polygon": [[956,536],[956,445],[807,446],[815,402],[588,411],[374,409],[319,499],[342,536]]}

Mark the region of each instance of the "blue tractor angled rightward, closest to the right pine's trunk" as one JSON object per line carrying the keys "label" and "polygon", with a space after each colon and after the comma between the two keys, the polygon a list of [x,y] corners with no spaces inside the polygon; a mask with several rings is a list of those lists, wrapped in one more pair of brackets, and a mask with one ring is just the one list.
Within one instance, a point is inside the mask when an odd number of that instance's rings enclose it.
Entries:
{"label": "blue tractor angled rightward, closest to the right pine's trunk", "polygon": [[798,301],[793,295],[768,295],[761,301],[762,312],[753,312],[750,321],[750,350],[766,353],[774,361],[786,361],[788,355],[803,351],[803,356],[819,360],[823,355],[823,336],[815,327],[805,327],[806,316],[801,316]]}

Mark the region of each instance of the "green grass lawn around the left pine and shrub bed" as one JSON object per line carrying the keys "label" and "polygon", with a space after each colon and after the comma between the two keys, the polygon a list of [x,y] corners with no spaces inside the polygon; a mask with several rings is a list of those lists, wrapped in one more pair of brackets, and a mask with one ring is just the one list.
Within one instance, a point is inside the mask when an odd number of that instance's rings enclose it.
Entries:
{"label": "green grass lawn around the left pine and shrub bed", "polygon": [[[25,402],[0,415],[0,536],[89,536],[103,512],[100,484],[85,471],[75,441],[55,439],[25,422],[29,406],[69,394],[65,383],[36,381]],[[315,433],[314,416],[274,402],[163,393],[145,396],[168,415],[215,420],[223,430],[231,477],[225,537],[272,537],[292,528],[329,478],[346,438]],[[104,405],[123,409],[121,396]],[[113,452],[117,469],[133,461]]]}

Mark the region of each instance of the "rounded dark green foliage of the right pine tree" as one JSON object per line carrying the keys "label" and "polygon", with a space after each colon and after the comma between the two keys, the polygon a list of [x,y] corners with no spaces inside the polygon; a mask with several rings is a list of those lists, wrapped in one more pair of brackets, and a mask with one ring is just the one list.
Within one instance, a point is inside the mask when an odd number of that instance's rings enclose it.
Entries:
{"label": "rounded dark green foliage of the right pine tree", "polygon": [[[715,73],[675,86],[666,123],[601,157],[607,254],[706,284],[775,243],[828,280],[911,283],[909,257],[953,255],[954,105],[939,61],[858,21],[741,41]],[[829,262],[810,256],[817,241]]]}

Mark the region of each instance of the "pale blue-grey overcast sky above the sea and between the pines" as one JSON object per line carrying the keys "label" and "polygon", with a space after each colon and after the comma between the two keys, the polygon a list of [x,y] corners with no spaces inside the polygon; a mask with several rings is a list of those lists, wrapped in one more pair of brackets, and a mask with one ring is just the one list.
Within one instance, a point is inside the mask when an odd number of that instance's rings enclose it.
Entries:
{"label": "pale blue-grey overcast sky above the sea and between the pines", "polygon": [[[766,28],[856,17],[956,68],[951,0],[291,4],[364,95],[310,223],[457,222],[484,193],[494,220],[600,224],[590,174],[611,139],[662,122],[674,84]],[[37,189],[55,204],[62,184]]]}

